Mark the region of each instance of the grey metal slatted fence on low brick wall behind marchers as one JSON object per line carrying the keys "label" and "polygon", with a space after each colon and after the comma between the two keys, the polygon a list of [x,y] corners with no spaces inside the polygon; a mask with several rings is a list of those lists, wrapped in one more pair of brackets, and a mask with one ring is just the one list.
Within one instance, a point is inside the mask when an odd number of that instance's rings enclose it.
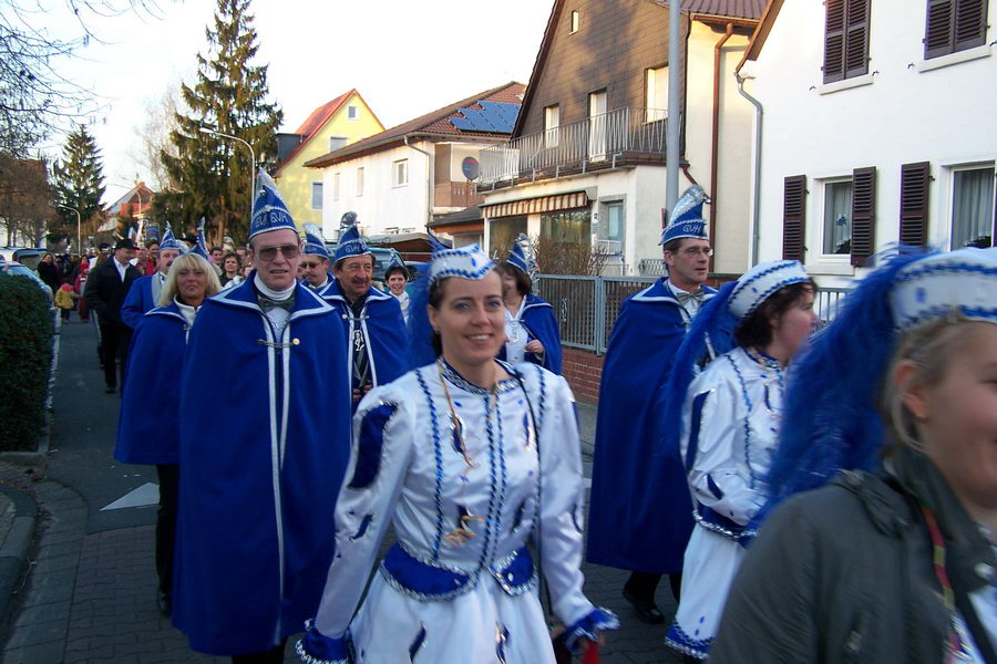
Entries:
{"label": "grey metal slatted fence on low brick wall behind marchers", "polygon": [[[562,345],[605,353],[623,301],[657,281],[656,277],[580,277],[539,274],[536,294],[554,307]],[[818,291],[814,310],[825,325],[834,318],[847,289]]]}

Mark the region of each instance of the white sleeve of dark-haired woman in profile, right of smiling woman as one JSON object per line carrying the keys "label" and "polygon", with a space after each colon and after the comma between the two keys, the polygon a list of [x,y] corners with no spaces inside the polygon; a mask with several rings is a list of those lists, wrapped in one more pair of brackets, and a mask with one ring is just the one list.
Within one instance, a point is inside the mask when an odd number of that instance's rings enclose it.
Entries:
{"label": "white sleeve of dark-haired woman in profile, right of smiling woman", "polygon": [[[696,398],[702,394],[707,396],[697,418]],[[682,454],[687,468],[695,448],[688,471],[692,497],[741,526],[751,520],[761,499],[749,486],[747,468],[738,460],[744,446],[744,413],[739,407],[742,400],[733,382],[710,381],[709,386],[701,387],[693,383],[682,412]]]}

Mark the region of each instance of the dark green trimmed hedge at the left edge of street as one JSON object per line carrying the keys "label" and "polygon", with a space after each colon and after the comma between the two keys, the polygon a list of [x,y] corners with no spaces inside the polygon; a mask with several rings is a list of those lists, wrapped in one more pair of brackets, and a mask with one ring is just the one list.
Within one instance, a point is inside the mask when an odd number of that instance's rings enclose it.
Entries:
{"label": "dark green trimmed hedge at the left edge of street", "polygon": [[0,450],[34,450],[45,415],[53,319],[38,283],[0,274]]}

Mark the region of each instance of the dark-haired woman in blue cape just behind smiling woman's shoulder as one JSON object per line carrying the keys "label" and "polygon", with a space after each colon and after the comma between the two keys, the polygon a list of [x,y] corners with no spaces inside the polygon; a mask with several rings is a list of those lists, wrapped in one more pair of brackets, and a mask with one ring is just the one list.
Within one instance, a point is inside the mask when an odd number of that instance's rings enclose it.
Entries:
{"label": "dark-haired woman in blue cape just behind smiling woman's shoulder", "polygon": [[520,234],[508,258],[495,270],[502,277],[505,302],[505,344],[498,359],[513,365],[532,362],[561,374],[561,331],[554,308],[533,294],[537,264],[525,234]]}

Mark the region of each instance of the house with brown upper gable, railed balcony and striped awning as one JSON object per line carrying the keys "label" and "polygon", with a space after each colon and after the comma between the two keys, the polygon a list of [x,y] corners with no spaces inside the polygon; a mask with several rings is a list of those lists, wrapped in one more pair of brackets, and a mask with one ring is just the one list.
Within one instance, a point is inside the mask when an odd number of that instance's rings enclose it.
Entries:
{"label": "house with brown upper gable, railed balcony and striped awning", "polygon": [[[668,79],[680,76],[680,189],[697,183],[716,272],[749,267],[750,102],[733,69],[763,0],[687,0],[682,66],[668,64],[669,10],[654,0],[554,2],[507,145],[482,153],[485,242],[520,232],[592,247],[604,273],[661,273]],[[543,266],[542,266],[543,269]]]}

